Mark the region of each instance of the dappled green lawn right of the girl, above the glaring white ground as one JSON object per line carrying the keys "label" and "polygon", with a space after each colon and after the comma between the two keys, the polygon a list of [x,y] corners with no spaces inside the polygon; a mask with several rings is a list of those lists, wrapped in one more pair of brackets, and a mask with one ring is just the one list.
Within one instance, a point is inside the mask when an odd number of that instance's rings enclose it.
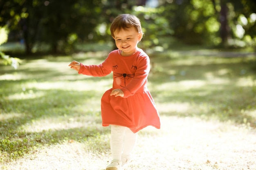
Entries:
{"label": "dappled green lawn right of the girl, above the glaring white ground", "polygon": [[169,104],[160,115],[215,117],[255,128],[256,86],[251,62],[228,60],[200,64],[153,60],[162,68],[153,67],[151,93],[159,107]]}

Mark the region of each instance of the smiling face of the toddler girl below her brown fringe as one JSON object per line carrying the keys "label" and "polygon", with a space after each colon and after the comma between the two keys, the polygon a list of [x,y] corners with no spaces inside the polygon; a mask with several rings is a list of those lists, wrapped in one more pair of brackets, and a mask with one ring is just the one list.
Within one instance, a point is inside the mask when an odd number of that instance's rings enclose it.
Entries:
{"label": "smiling face of the toddler girl below her brown fringe", "polygon": [[114,31],[116,46],[122,51],[121,55],[132,55],[137,50],[137,44],[142,38],[142,33],[138,33],[132,26],[128,29]]}

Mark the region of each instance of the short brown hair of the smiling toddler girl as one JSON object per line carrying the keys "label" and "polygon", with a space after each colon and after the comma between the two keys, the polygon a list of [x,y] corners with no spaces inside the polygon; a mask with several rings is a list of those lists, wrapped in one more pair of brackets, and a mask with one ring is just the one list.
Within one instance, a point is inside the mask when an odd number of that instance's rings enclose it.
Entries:
{"label": "short brown hair of the smiling toddler girl", "polygon": [[143,33],[141,29],[141,23],[139,18],[132,14],[120,14],[115,18],[110,26],[110,32],[112,37],[115,38],[114,32],[120,29],[128,29],[134,26],[138,33]]}

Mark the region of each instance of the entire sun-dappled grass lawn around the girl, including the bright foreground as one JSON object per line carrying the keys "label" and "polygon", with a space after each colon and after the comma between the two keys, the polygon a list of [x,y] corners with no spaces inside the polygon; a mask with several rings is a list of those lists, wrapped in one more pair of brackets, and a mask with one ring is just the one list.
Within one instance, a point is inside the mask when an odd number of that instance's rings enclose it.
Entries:
{"label": "entire sun-dappled grass lawn around the girl, including the bright foreground", "polygon": [[[105,169],[110,128],[101,126],[100,99],[111,75],[78,75],[68,64],[98,64],[106,55],[47,55],[24,60],[18,70],[0,66],[0,169]],[[135,159],[124,170],[256,169],[254,55],[150,55],[148,88],[162,128],[139,132]]]}

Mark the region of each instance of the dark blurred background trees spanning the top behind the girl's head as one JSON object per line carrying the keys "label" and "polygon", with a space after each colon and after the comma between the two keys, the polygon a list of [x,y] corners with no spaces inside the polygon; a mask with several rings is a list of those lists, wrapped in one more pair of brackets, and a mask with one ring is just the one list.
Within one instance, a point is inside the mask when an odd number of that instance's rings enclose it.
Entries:
{"label": "dark blurred background trees spanning the top behind the girl's head", "polygon": [[120,13],[137,15],[141,48],[182,44],[256,46],[255,0],[1,0],[0,28],[25,53],[72,53],[81,44],[113,43],[109,27]]}

